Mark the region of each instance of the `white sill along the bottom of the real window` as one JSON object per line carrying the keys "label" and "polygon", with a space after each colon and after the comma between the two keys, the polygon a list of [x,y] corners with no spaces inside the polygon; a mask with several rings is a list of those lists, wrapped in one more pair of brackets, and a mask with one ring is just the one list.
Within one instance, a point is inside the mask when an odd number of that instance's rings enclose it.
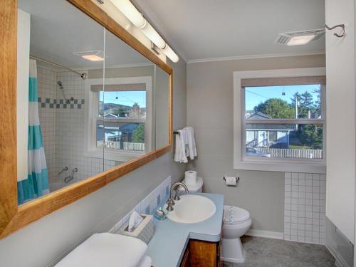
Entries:
{"label": "white sill along the bottom of the real window", "polygon": [[325,162],[312,162],[310,160],[285,161],[278,159],[258,160],[244,159],[234,162],[234,169],[246,169],[267,172],[306,172],[306,173],[326,173]]}

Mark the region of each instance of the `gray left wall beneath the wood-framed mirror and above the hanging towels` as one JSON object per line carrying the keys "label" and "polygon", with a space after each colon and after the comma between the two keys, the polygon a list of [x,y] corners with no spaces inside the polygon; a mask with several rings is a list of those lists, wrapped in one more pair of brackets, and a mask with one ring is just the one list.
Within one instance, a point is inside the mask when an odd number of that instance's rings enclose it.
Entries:
{"label": "gray left wall beneath the wood-framed mirror and above the hanging towels", "polygon": [[[185,63],[174,68],[174,128],[187,125]],[[184,165],[172,154],[127,174],[93,194],[26,226],[0,240],[0,265],[6,267],[47,266],[94,232],[108,231],[166,177],[182,178]]]}

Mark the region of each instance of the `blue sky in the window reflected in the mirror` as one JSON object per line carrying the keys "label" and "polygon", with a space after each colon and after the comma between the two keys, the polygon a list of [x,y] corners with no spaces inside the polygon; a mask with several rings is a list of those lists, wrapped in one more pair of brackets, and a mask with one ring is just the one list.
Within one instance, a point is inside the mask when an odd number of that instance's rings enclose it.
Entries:
{"label": "blue sky in the window reflected in the mirror", "polygon": [[133,104],[138,103],[140,108],[146,108],[146,91],[105,92],[105,99],[103,98],[103,92],[100,92],[100,101],[128,105],[130,107],[132,107]]}

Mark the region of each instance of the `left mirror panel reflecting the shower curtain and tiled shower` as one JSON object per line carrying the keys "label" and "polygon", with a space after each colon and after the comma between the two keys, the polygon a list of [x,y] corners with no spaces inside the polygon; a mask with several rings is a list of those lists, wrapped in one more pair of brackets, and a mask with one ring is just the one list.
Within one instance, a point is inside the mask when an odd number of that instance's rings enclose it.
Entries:
{"label": "left mirror panel reflecting the shower curtain and tiled shower", "polygon": [[87,157],[83,137],[85,84],[89,70],[103,73],[105,28],[67,1],[20,0],[18,8],[17,169],[23,204],[103,172],[103,147],[98,157]]}

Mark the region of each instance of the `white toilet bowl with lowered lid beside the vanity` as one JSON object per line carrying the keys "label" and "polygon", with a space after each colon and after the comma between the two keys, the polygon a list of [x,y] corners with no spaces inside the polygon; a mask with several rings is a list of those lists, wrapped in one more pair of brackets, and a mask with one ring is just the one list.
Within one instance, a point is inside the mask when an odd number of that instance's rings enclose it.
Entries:
{"label": "white toilet bowl with lowered lid beside the vanity", "polygon": [[246,234],[251,224],[251,216],[248,211],[237,206],[224,206],[221,254],[223,261],[245,262],[245,252],[240,237]]}

